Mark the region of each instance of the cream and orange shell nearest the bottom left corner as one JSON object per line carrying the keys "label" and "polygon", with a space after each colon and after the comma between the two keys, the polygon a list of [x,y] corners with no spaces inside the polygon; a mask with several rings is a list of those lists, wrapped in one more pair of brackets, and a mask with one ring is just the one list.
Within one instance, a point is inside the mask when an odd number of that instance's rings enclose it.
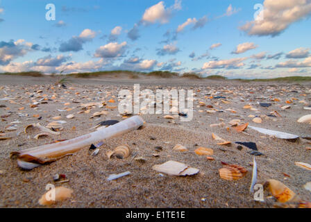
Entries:
{"label": "cream and orange shell nearest the bottom left corner", "polygon": [[[72,196],[72,192],[72,189],[68,189],[66,187],[56,187],[43,194],[38,202],[40,205],[51,205],[56,203],[56,201],[70,198]],[[53,194],[55,194],[55,196]]]}

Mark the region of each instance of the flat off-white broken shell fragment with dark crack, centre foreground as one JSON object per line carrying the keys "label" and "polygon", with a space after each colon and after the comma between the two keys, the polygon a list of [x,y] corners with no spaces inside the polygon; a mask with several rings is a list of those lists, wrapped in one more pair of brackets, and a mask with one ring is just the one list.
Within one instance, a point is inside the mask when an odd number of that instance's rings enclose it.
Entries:
{"label": "flat off-white broken shell fragment with dark crack, centre foreground", "polygon": [[188,167],[182,162],[176,162],[173,160],[169,160],[164,164],[154,165],[152,169],[160,173],[167,173],[168,175],[174,176],[191,176],[199,173],[199,169]]}

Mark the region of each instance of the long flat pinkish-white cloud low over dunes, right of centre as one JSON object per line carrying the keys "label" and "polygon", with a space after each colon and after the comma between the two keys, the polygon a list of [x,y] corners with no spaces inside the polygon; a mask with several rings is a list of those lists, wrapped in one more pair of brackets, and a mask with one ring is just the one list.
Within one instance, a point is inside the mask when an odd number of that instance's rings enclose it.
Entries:
{"label": "long flat pinkish-white cloud low over dunes, right of centre", "polygon": [[209,61],[205,62],[202,69],[236,69],[243,67],[244,60],[247,58],[232,58],[230,60],[218,60],[218,61]]}

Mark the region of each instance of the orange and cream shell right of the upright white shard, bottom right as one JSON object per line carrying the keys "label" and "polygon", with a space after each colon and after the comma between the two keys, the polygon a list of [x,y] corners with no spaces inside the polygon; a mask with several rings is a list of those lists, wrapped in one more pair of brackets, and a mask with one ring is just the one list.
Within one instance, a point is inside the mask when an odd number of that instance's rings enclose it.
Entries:
{"label": "orange and cream shell right of the upright white shard, bottom right", "polygon": [[280,203],[286,203],[289,200],[292,200],[296,195],[294,191],[289,189],[287,186],[278,180],[267,180],[266,185],[268,186],[271,194],[278,200]]}

